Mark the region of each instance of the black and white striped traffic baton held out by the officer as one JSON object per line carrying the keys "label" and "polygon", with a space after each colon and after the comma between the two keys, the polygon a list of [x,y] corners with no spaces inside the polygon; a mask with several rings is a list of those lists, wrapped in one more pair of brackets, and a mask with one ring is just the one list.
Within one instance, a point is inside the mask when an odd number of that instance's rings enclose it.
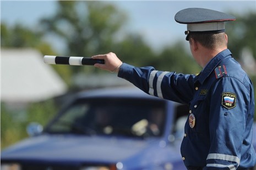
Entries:
{"label": "black and white striped traffic baton held out by the officer", "polygon": [[96,63],[104,64],[101,59],[86,58],[83,56],[43,56],[43,62],[46,64],[66,64],[66,65],[94,65]]}

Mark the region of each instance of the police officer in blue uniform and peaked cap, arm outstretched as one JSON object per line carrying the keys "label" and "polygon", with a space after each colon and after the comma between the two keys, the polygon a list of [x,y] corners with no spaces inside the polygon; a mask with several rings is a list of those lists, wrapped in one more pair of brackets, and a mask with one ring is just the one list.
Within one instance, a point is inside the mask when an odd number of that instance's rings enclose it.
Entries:
{"label": "police officer in blue uniform and peaked cap, arm outstretched", "polygon": [[253,85],[227,49],[225,21],[235,17],[215,10],[188,8],[175,20],[187,24],[186,40],[199,75],[157,71],[122,63],[114,53],[92,56],[104,59],[100,69],[118,72],[144,92],[188,104],[181,157],[188,169],[247,169],[256,164],[252,146]]}

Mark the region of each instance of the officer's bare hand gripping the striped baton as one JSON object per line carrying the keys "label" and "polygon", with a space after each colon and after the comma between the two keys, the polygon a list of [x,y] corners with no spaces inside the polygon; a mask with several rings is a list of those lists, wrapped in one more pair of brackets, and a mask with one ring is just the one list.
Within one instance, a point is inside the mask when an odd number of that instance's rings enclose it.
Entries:
{"label": "officer's bare hand gripping the striped baton", "polygon": [[119,60],[115,53],[108,53],[102,55],[95,55],[91,57],[92,59],[104,59],[105,64],[95,64],[94,66],[102,70],[107,70],[111,72],[118,72],[119,67],[122,65],[122,61]]}

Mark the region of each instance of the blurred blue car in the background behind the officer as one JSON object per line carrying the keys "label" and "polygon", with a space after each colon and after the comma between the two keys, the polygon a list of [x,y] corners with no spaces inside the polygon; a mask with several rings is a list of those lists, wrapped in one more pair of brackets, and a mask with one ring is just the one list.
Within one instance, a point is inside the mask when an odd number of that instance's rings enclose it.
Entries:
{"label": "blurred blue car in the background behind the officer", "polygon": [[188,106],[134,88],[82,92],[41,133],[1,153],[1,169],[186,169]]}

